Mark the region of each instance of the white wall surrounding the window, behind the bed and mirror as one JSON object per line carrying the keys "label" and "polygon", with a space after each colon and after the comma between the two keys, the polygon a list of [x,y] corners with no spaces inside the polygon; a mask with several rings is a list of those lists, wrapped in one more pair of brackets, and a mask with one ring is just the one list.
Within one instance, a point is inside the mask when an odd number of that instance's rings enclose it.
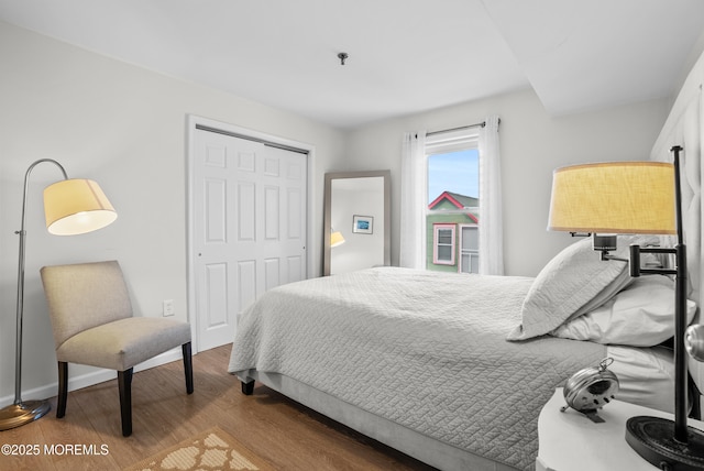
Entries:
{"label": "white wall surrounding the window, behind the bed and mirror", "polygon": [[373,123],[351,132],[345,167],[392,171],[392,264],[398,264],[400,152],[404,132],[437,131],[501,117],[506,274],[535,276],[562,248],[564,232],[547,232],[556,167],[581,162],[648,160],[669,99],[565,117],[546,113],[532,90]]}

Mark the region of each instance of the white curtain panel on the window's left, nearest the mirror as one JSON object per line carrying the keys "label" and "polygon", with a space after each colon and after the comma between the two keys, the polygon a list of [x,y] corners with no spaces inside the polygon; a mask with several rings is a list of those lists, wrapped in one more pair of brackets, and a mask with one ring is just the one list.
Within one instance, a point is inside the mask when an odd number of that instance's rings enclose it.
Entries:
{"label": "white curtain panel on the window's left, nearest the mirror", "polygon": [[400,162],[399,265],[425,270],[426,131],[405,133]]}

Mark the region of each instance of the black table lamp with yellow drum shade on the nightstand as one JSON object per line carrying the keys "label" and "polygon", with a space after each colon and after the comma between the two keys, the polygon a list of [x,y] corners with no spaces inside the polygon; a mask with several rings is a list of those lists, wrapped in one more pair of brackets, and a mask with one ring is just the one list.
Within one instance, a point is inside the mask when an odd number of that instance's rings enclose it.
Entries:
{"label": "black table lamp with yellow drum shade on the nightstand", "polygon": [[[602,260],[616,249],[617,233],[673,234],[673,249],[630,247],[630,275],[675,276],[674,289],[674,421],[631,417],[626,441],[644,459],[662,470],[704,470],[704,432],[689,427],[686,330],[686,248],[682,226],[680,152],[674,163],[613,162],[554,171],[548,229],[590,232]],[[676,267],[641,269],[640,253],[673,254]],[[698,398],[697,398],[698,399]]]}

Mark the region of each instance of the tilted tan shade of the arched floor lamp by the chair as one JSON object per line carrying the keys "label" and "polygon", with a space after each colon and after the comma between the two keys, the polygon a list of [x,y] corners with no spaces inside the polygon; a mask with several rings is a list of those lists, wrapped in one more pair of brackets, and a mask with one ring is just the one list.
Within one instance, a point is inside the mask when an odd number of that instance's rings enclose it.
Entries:
{"label": "tilted tan shade of the arched floor lamp by the chair", "polygon": [[110,224],[118,213],[100,186],[90,179],[56,182],[44,189],[46,229],[55,236],[91,232]]}

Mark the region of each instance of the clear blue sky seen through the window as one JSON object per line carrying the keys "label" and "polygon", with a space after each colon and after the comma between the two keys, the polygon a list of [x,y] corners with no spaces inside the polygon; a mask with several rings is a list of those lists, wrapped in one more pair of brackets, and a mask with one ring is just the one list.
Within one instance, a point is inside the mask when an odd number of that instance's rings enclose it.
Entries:
{"label": "clear blue sky seen through the window", "polygon": [[480,153],[476,149],[435,154],[428,157],[428,202],[442,191],[480,196]]}

